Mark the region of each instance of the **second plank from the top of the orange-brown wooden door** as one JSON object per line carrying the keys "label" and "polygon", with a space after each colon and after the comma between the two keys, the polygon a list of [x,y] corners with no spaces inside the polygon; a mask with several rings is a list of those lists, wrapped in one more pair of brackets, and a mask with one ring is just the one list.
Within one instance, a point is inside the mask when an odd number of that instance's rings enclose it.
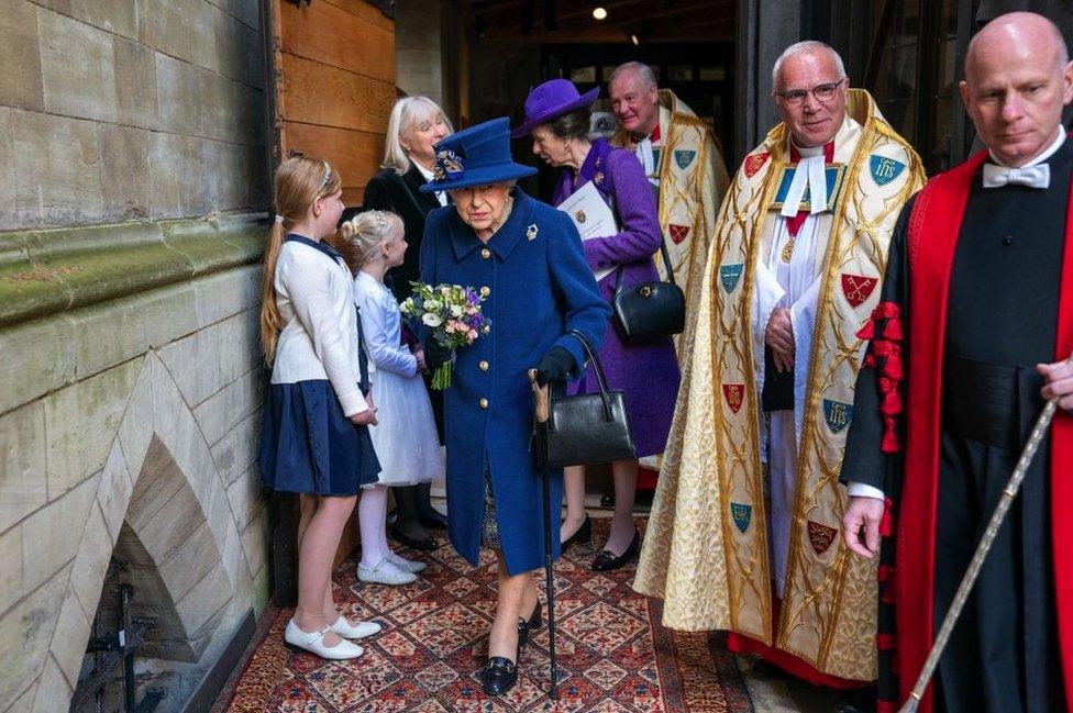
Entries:
{"label": "second plank from the top of the orange-brown wooden door", "polygon": [[357,131],[387,131],[395,86],[294,55],[280,57],[280,119]]}

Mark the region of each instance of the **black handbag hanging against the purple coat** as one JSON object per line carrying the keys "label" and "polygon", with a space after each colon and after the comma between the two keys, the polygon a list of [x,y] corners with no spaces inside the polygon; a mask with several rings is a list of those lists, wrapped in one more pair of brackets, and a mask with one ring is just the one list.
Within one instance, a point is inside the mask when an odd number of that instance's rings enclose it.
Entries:
{"label": "black handbag hanging against the purple coat", "polygon": [[667,281],[638,282],[622,286],[623,266],[615,280],[615,325],[626,342],[644,342],[654,337],[681,334],[686,326],[686,298],[674,282],[667,245],[660,242]]}

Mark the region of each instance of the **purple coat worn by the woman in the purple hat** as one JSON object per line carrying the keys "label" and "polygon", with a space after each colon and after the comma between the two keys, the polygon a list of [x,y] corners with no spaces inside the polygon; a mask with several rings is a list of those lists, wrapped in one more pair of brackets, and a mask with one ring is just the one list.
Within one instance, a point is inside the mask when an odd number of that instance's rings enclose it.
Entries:
{"label": "purple coat worn by the woman in the purple hat", "polygon": [[[598,138],[576,179],[569,169],[560,175],[552,203],[558,205],[589,181],[596,183],[604,200],[611,205],[622,229],[615,235],[582,243],[589,267],[595,271],[622,265],[627,286],[659,280],[652,258],[659,255],[663,235],[655,196],[637,156],[622,148],[612,148]],[[615,296],[615,282],[616,270],[612,270],[598,283],[600,296],[608,303]],[[663,453],[681,378],[674,343],[666,337],[645,344],[626,344],[619,337],[613,320],[612,316],[608,322],[604,346],[599,350],[608,387],[626,393],[626,410],[638,457]],[[598,389],[591,367],[584,379],[571,385],[572,392]]]}

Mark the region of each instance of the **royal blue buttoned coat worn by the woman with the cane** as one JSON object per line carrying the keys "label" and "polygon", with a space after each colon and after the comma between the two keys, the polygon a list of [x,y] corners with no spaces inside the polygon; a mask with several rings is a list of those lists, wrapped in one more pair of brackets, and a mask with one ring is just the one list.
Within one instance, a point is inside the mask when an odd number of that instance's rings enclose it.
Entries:
{"label": "royal blue buttoned coat worn by the woman with the cane", "polygon": [[[477,565],[485,465],[491,476],[507,570],[543,564],[541,482],[530,448],[533,397],[528,370],[553,346],[584,364],[577,330],[595,348],[610,309],[569,218],[520,189],[507,222],[483,243],[452,205],[433,211],[421,242],[421,281],[488,288],[491,328],[458,350],[444,394],[451,543]],[[562,470],[552,477],[553,554],[558,556]]]}

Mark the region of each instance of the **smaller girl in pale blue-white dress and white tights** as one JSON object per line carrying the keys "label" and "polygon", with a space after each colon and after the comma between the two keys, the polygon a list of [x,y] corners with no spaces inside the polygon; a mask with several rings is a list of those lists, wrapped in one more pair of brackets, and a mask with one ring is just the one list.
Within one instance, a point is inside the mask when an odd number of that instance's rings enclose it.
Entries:
{"label": "smaller girl in pale blue-white dress and white tights", "polygon": [[373,397],[383,409],[378,423],[369,428],[380,477],[365,487],[358,503],[362,561],[357,578],[407,584],[424,564],[403,559],[388,547],[387,488],[431,482],[443,474],[443,466],[432,404],[421,378],[424,353],[401,344],[399,305],[384,285],[385,274],[401,265],[406,253],[402,221],[388,211],[367,211],[343,223],[341,233],[356,274],[354,300],[375,375]]}

